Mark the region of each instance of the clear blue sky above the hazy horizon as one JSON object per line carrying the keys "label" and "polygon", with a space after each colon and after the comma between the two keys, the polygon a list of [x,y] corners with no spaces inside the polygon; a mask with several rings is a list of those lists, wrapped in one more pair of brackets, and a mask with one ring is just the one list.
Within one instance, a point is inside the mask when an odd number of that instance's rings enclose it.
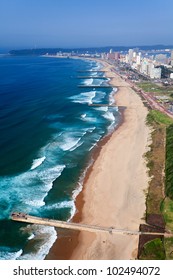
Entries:
{"label": "clear blue sky above the hazy horizon", "polygon": [[173,45],[173,0],[0,0],[0,48]]}

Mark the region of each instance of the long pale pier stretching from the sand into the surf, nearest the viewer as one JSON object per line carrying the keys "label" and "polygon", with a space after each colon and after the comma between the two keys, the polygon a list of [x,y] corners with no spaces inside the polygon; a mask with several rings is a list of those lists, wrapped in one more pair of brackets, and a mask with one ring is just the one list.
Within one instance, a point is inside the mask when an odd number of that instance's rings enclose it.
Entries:
{"label": "long pale pier stretching from the sand into the surf, nearest the viewer", "polygon": [[25,213],[15,212],[12,213],[11,219],[17,222],[24,222],[30,224],[38,224],[38,225],[45,225],[45,226],[53,226],[56,228],[63,228],[63,229],[71,229],[71,230],[82,230],[82,231],[89,231],[89,232],[104,232],[110,234],[125,234],[125,235],[164,235],[165,237],[173,237],[173,233],[161,233],[161,232],[142,232],[142,231],[132,231],[127,229],[116,229],[113,227],[102,227],[102,226],[95,226],[95,225],[86,225],[86,224],[79,224],[79,223],[71,223],[71,222],[64,222],[59,220],[52,220],[47,218],[40,218],[36,216],[30,216]]}

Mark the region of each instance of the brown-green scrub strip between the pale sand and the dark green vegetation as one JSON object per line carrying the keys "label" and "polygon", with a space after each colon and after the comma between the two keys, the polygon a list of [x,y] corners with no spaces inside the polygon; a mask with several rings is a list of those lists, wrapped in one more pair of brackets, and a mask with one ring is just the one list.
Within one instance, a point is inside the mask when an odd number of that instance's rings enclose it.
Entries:
{"label": "brown-green scrub strip between the pale sand and the dark green vegetation", "polygon": [[166,127],[172,120],[159,111],[151,110],[147,124],[152,126],[152,143],[146,153],[150,183],[146,199],[146,214],[161,214],[160,205],[164,199],[165,137]]}

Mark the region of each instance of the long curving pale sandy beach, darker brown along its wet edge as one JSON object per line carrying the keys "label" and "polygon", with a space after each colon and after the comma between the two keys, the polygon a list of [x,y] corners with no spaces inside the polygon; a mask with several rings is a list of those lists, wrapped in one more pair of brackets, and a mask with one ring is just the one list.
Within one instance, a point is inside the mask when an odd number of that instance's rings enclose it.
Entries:
{"label": "long curving pale sandy beach, darker brown along its wet edge", "polygon": [[[104,62],[110,83],[118,87],[116,104],[125,106],[123,123],[102,146],[76,200],[75,222],[138,230],[148,187],[144,154],[150,130],[140,97]],[[135,259],[138,236],[76,232],[57,240],[46,259]],[[67,242],[68,241],[68,242]],[[64,253],[62,253],[64,251]],[[59,253],[58,253],[59,252]],[[60,254],[60,252],[62,254]]]}

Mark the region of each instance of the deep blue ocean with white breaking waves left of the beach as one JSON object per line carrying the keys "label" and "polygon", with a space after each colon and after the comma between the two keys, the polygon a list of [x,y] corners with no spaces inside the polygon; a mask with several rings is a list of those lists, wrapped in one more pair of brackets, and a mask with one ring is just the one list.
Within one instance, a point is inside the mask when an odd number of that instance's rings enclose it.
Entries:
{"label": "deep blue ocean with white breaking waves left of the beach", "polygon": [[[0,259],[44,259],[53,227],[10,220],[12,212],[67,221],[98,141],[119,122],[113,88],[80,88],[101,65],[85,59],[0,56]],[[102,76],[102,72],[87,75]]]}

